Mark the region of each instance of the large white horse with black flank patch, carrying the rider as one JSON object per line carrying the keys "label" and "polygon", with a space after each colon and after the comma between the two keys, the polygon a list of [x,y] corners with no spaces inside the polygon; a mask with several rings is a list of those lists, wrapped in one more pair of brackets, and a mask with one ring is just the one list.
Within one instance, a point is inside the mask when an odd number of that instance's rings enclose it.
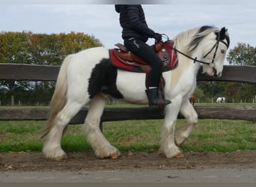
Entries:
{"label": "large white horse with black flank patch, carrying the rider", "polygon": [[[186,141],[198,121],[198,114],[189,102],[189,96],[195,91],[198,70],[203,67],[203,73],[209,76],[222,76],[230,40],[225,28],[203,26],[178,34],[174,37],[174,43],[179,64],[176,69],[162,73],[165,79],[165,98],[171,100],[171,104],[164,108],[165,118],[160,135],[160,151],[167,158],[183,157],[179,146]],[[116,73],[116,77],[109,80],[112,71]],[[97,80],[91,79],[92,72],[100,75]],[[55,160],[67,158],[67,154],[61,149],[64,129],[88,103],[88,114],[83,126],[95,155],[100,159],[118,158],[121,153],[100,131],[100,117],[108,96],[103,91],[93,93],[92,90],[99,86],[103,88],[103,82],[110,81],[115,84],[125,101],[146,104],[144,80],[144,73],[113,67],[109,60],[109,49],[104,47],[85,49],[68,55],[61,65],[49,119],[42,129],[41,137],[45,137],[44,156]],[[186,123],[176,129],[179,112],[186,118]]]}

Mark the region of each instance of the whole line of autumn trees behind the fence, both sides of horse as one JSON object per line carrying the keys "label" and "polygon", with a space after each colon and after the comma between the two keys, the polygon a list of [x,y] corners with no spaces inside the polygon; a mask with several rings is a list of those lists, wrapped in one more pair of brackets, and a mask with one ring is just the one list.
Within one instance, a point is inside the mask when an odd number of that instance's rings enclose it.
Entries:
{"label": "whole line of autumn trees behind the fence, both sides of horse", "polygon": [[[34,34],[31,31],[0,32],[0,63],[61,65],[72,53],[103,46],[93,35]],[[237,43],[227,55],[233,65],[256,65],[256,47]],[[55,82],[0,81],[0,105],[49,105]],[[228,102],[252,102],[256,85],[244,82],[198,82],[194,93],[201,102],[225,96]]]}

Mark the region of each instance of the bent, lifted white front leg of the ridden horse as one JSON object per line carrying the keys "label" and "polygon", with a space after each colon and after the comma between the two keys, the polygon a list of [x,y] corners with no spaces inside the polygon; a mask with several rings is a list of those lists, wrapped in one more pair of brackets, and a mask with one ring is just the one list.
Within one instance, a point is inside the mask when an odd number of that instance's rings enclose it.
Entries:
{"label": "bent, lifted white front leg of the ridden horse", "polygon": [[187,123],[184,126],[178,128],[175,132],[175,141],[178,146],[183,144],[186,141],[186,138],[189,138],[190,133],[192,132],[193,127],[198,123],[198,114],[193,108],[192,104],[187,99],[181,105],[180,113],[186,118]]}

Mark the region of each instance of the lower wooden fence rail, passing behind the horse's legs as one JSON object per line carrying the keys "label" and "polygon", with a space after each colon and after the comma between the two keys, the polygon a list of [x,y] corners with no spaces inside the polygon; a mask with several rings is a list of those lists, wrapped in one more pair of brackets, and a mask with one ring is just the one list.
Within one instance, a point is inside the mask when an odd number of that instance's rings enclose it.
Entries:
{"label": "lower wooden fence rail, passing behind the horse's legs", "polygon": [[[251,106],[195,106],[200,119],[256,121],[256,108]],[[84,123],[88,108],[82,108],[70,124]],[[0,108],[0,120],[46,120],[49,108]],[[164,117],[159,108],[105,108],[101,121],[156,120]],[[179,115],[178,118],[183,118]]]}

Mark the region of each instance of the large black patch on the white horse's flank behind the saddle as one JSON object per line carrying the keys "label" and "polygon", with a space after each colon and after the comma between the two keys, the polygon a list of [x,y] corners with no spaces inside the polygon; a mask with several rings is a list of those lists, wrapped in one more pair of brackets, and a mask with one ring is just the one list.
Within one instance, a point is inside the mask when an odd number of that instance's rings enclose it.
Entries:
{"label": "large black patch on the white horse's flank behind the saddle", "polygon": [[117,68],[112,65],[109,59],[103,58],[91,72],[88,85],[89,98],[92,99],[99,92],[118,99],[124,98],[116,85],[117,76]]}

